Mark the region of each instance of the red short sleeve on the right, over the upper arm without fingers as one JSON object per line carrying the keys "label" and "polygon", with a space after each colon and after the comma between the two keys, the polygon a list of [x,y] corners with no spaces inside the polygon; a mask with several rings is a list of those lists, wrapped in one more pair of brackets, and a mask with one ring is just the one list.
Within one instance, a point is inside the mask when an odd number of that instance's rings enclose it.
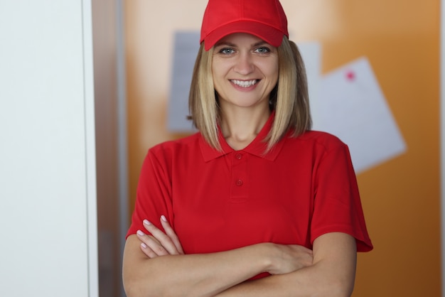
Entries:
{"label": "red short sleeve on the right, over the upper arm without fingers", "polygon": [[344,232],[355,237],[358,252],[370,251],[373,247],[350,152],[339,139],[326,145],[316,167],[314,184],[311,242],[328,232]]}

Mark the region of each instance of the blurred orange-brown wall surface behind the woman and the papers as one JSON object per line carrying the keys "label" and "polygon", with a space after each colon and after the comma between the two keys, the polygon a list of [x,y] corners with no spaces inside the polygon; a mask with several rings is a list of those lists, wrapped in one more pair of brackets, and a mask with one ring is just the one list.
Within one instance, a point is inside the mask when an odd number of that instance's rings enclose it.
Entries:
{"label": "blurred orange-brown wall surface behind the woman and the papers", "polygon": [[[125,2],[130,208],[146,150],[166,130],[173,31],[199,30],[207,0]],[[322,71],[365,55],[407,152],[358,175],[375,250],[355,297],[440,296],[439,0],[282,0],[294,41],[318,41]],[[186,13],[185,13],[186,12]]]}

